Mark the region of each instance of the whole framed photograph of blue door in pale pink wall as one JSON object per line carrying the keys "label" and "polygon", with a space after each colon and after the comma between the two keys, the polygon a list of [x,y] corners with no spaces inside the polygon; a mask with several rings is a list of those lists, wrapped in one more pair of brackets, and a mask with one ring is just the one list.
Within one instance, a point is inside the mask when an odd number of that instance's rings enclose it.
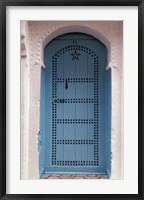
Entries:
{"label": "whole framed photograph of blue door in pale pink wall", "polygon": [[122,119],[122,21],[21,21],[21,179],[123,179]]}

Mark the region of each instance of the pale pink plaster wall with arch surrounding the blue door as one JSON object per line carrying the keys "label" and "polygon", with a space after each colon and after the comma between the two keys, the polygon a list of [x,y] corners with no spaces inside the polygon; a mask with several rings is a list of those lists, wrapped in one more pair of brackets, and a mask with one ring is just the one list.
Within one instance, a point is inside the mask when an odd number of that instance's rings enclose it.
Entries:
{"label": "pale pink plaster wall with arch surrounding the blue door", "polygon": [[[112,68],[112,174],[123,178],[122,82],[123,24],[121,21],[22,21],[21,22],[21,178],[38,179],[37,136],[40,120],[40,71],[43,49],[55,37],[83,32],[101,40]],[[86,177],[86,176],[84,176]],[[47,177],[48,178],[48,177]],[[49,177],[50,178],[50,177]],[[52,176],[51,176],[52,178]],[[82,178],[82,177],[81,177]],[[96,177],[97,178],[97,177]]]}

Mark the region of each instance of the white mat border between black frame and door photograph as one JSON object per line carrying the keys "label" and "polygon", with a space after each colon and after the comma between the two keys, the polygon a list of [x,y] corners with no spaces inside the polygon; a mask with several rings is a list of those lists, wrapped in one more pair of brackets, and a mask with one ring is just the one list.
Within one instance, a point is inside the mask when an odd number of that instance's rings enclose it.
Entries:
{"label": "white mat border between black frame and door photograph", "polygon": [[[40,15],[37,15],[40,12]],[[79,15],[74,14],[78,12]],[[85,15],[85,13],[89,13]],[[7,194],[138,193],[138,7],[7,6]],[[124,180],[20,180],[20,21],[123,20]],[[132,33],[132,34],[131,34]],[[134,48],[131,49],[131,41]],[[14,50],[13,50],[14,49]],[[131,59],[133,58],[133,59]],[[126,66],[132,66],[131,69]],[[133,67],[135,66],[135,67]],[[128,80],[128,81],[127,81]],[[133,81],[134,80],[134,81]],[[132,90],[131,90],[132,88]],[[8,101],[10,100],[10,101]],[[131,114],[133,110],[134,115]],[[13,117],[14,115],[14,117]],[[133,135],[132,135],[133,134]],[[135,147],[135,148],[133,148]],[[133,156],[132,156],[133,155]],[[133,165],[132,165],[133,164]]]}

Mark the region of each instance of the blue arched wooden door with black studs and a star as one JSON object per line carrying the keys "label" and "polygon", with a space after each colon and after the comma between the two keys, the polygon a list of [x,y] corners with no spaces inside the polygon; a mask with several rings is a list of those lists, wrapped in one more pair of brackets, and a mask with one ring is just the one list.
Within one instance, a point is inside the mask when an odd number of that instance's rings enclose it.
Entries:
{"label": "blue arched wooden door with black studs and a star", "polygon": [[110,72],[95,38],[66,34],[44,51],[39,168],[43,173],[110,171]]}

